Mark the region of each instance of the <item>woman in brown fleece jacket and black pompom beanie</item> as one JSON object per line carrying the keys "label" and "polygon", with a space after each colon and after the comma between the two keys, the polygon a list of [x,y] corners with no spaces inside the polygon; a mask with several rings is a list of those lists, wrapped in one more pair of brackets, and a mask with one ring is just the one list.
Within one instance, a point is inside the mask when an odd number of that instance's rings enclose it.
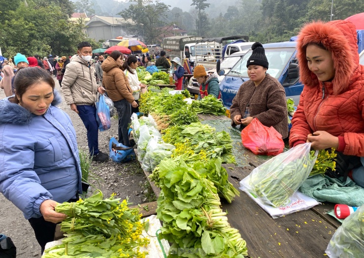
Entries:
{"label": "woman in brown fleece jacket and black pompom beanie", "polygon": [[249,81],[240,86],[230,107],[231,125],[247,126],[253,118],[265,126],[273,126],[282,135],[288,137],[288,119],[286,93],[283,86],[274,77],[266,74],[268,60],[261,43],[252,45],[249,57]]}

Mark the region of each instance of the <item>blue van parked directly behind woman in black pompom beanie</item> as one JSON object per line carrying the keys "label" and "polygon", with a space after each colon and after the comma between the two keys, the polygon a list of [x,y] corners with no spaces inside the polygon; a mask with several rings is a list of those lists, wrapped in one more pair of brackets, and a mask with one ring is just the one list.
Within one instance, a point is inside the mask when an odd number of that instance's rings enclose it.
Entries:
{"label": "blue van parked directly behind woman in black pompom beanie", "polygon": [[[303,84],[300,82],[298,62],[296,59],[296,42],[287,41],[279,43],[264,44],[265,53],[269,62],[267,73],[276,78],[284,87],[286,97],[292,98],[298,105]],[[230,106],[243,82],[249,80],[246,62],[251,56],[250,49],[233,68],[225,75],[220,83],[221,99],[230,115]],[[224,75],[224,69],[219,75]]]}

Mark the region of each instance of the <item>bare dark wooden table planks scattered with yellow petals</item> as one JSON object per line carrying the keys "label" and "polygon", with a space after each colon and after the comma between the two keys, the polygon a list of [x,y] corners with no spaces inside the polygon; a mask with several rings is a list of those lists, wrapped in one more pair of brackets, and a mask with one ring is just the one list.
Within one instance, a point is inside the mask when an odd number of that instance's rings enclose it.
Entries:
{"label": "bare dark wooden table planks scattered with yellow petals", "polygon": [[[223,167],[236,188],[254,169],[233,164]],[[337,228],[327,220],[329,215],[312,209],[273,219],[242,191],[232,203],[222,200],[222,209],[228,211],[230,225],[240,230],[251,258],[322,257]]]}

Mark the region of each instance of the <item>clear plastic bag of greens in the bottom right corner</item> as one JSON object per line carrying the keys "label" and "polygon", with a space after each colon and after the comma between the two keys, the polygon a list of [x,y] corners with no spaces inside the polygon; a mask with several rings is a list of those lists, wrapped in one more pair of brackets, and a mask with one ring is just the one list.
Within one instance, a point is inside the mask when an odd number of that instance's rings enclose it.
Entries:
{"label": "clear plastic bag of greens in the bottom right corner", "polygon": [[364,258],[364,205],[336,230],[326,254],[330,258]]}

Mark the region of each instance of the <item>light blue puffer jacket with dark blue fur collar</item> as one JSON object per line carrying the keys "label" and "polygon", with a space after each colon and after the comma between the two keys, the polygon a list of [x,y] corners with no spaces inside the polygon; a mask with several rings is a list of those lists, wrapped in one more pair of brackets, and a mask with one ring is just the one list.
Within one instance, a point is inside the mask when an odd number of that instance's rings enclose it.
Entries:
{"label": "light blue puffer jacket with dark blue fur collar", "polygon": [[24,213],[39,218],[40,204],[64,202],[81,190],[76,132],[54,100],[44,115],[33,115],[8,97],[0,100],[0,192]]}

